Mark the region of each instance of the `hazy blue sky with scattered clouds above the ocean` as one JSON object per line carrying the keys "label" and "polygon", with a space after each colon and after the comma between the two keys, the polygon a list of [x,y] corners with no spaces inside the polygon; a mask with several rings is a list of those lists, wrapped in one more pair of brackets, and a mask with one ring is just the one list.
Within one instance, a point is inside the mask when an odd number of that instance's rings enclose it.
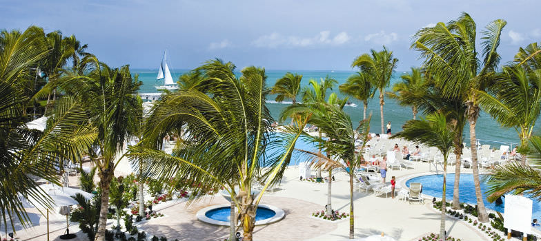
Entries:
{"label": "hazy blue sky with scattered clouds above the ocean", "polygon": [[[397,70],[422,61],[412,35],[426,26],[471,14],[478,26],[508,24],[502,63],[541,40],[538,0],[142,1],[0,0],[0,29],[38,25],[75,34],[110,66],[157,68],[165,49],[170,67],[192,69],[209,59],[268,70],[352,70],[356,56],[383,45]],[[481,50],[480,46],[478,50]]]}

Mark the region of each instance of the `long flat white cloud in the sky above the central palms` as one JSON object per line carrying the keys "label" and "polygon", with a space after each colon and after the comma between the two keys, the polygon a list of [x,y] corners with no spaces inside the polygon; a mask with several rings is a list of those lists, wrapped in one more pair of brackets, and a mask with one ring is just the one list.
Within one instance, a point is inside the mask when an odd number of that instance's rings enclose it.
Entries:
{"label": "long flat white cloud in the sky above the central palms", "polygon": [[315,45],[342,45],[348,43],[351,37],[347,32],[340,32],[331,38],[330,31],[322,31],[312,37],[304,36],[284,36],[277,32],[260,36],[252,42],[252,45],[259,48],[277,48],[284,47],[310,47]]}

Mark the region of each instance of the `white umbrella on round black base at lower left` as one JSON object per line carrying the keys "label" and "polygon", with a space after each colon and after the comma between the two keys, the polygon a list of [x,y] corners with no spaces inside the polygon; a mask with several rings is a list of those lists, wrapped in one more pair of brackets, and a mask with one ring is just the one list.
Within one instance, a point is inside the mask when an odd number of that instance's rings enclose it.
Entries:
{"label": "white umbrella on round black base at lower left", "polygon": [[[61,235],[61,239],[70,239],[75,238],[75,234],[70,234],[70,223],[68,222],[68,214],[70,213],[70,206],[76,205],[77,201],[72,198],[72,196],[75,196],[77,193],[80,193],[84,198],[91,199],[94,197],[94,194],[88,193],[86,191],[82,191],[81,189],[75,189],[71,187],[61,187],[59,185],[54,184],[43,184],[39,185],[43,191],[46,191],[46,193],[50,196],[52,199],[52,207],[55,209],[59,209],[59,213],[61,215],[66,215],[66,235]],[[32,200],[30,198],[27,200],[26,198],[21,198],[23,202],[23,207],[36,207],[32,204],[37,204],[36,200]],[[39,206],[37,208],[45,208],[47,211],[47,240],[49,240],[49,209],[48,207]]]}

